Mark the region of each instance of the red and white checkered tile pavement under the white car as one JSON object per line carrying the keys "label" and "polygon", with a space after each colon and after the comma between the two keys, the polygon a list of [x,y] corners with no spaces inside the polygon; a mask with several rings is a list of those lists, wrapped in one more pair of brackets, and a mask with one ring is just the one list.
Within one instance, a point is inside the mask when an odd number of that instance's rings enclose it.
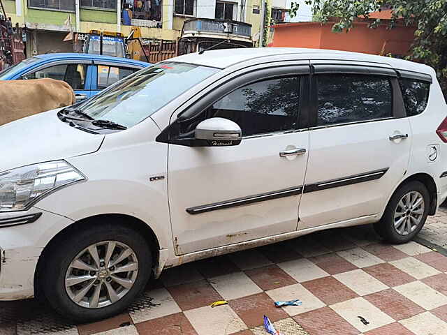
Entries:
{"label": "red and white checkered tile pavement under the white car", "polygon": [[[446,271],[447,258],[416,242],[330,230],[168,269],[128,313],[94,324],[34,300],[1,303],[0,334],[261,335],[265,314],[283,335],[442,335]],[[291,299],[302,305],[274,307]]]}

